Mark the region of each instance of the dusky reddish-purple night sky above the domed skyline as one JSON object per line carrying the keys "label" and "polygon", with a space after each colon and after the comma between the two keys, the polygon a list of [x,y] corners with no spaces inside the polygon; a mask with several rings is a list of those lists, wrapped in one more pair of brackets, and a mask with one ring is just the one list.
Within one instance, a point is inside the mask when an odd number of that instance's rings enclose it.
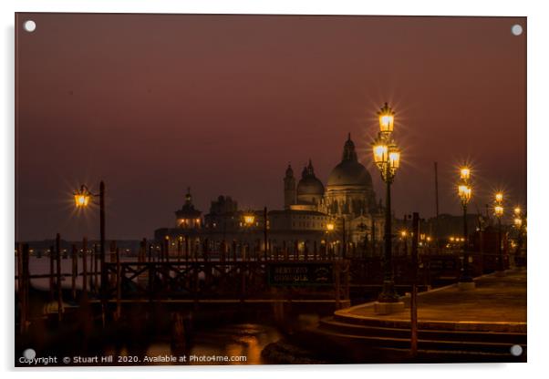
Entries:
{"label": "dusky reddish-purple night sky above the domed skyline", "polygon": [[[22,28],[36,21],[36,31]],[[521,24],[522,36],[511,27]],[[98,238],[72,191],[107,186],[107,238],[174,225],[192,188],[281,209],[288,162],[326,183],[347,133],[383,187],[369,143],[397,112],[397,217],[459,214],[457,167],[473,165],[471,211],[503,189],[526,197],[526,20],[487,17],[19,14],[16,240]]]}

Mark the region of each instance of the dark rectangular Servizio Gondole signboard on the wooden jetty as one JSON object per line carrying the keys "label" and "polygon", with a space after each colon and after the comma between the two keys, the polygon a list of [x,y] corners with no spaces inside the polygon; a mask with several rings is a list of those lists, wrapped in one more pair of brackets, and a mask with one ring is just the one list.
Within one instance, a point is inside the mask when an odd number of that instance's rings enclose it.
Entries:
{"label": "dark rectangular Servizio Gondole signboard on the wooden jetty", "polygon": [[331,263],[271,263],[268,265],[269,284],[280,286],[333,285]]}

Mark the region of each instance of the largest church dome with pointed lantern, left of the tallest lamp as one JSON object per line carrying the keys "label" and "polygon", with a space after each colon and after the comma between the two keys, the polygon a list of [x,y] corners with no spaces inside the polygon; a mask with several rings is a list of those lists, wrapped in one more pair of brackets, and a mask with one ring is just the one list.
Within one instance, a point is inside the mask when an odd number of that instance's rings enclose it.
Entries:
{"label": "largest church dome with pointed lantern, left of the tallest lamp", "polygon": [[360,186],[372,188],[372,177],[368,169],[358,162],[355,144],[351,140],[350,134],[343,148],[341,163],[330,172],[327,185],[328,187]]}

